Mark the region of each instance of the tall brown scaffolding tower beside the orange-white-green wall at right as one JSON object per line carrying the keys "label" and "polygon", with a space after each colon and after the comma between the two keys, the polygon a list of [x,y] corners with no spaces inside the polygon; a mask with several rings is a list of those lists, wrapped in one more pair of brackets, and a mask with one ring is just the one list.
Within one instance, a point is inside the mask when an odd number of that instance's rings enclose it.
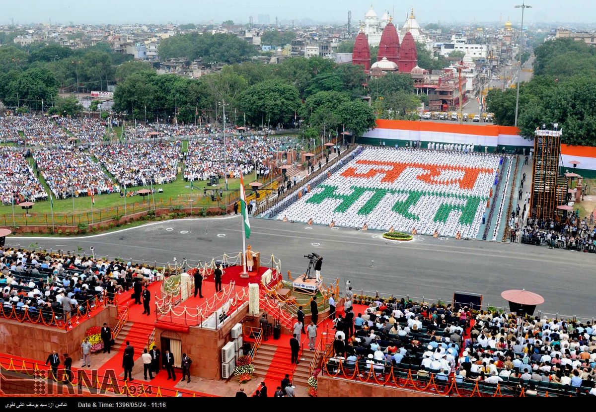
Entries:
{"label": "tall brown scaffolding tower beside the orange-white-green wall at right", "polygon": [[538,219],[555,219],[557,206],[567,204],[567,179],[559,173],[562,133],[562,129],[535,132],[530,210]]}

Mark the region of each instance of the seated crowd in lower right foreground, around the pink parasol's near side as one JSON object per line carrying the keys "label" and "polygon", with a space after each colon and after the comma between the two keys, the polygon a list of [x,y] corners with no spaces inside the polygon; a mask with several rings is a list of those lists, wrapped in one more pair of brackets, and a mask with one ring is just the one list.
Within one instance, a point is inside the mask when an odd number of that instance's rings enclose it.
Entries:
{"label": "seated crowd in lower right foreground, around the pink parasol's near side", "polygon": [[[596,395],[596,327],[539,317],[480,311],[458,305],[418,305],[377,299],[364,313],[336,320],[333,353],[326,370],[350,377],[358,364],[367,378],[371,368],[381,382],[393,376],[446,386],[455,380],[470,392],[519,396]],[[468,332],[469,331],[469,332]],[[341,363],[341,366],[340,366]],[[339,374],[342,377],[342,374]]]}

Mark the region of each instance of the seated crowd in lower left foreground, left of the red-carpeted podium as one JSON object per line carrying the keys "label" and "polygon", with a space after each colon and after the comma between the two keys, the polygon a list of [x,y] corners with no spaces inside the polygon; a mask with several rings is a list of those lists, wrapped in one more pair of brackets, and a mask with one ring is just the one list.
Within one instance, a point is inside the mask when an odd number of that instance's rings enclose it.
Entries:
{"label": "seated crowd in lower left foreground, left of the red-carpeted podium", "polygon": [[85,314],[104,294],[112,301],[134,282],[148,283],[159,276],[146,265],[0,248],[0,314],[21,319],[28,313],[36,322],[41,313],[45,323],[52,316],[64,321]]}

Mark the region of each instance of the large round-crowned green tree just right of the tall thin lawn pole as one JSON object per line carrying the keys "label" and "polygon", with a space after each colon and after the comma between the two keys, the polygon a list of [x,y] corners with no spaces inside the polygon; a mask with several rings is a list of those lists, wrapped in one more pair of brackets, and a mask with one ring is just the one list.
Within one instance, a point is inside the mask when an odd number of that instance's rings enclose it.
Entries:
{"label": "large round-crowned green tree just right of the tall thin lawn pole", "polygon": [[279,80],[250,86],[240,97],[241,108],[252,124],[287,124],[300,107],[298,90]]}

